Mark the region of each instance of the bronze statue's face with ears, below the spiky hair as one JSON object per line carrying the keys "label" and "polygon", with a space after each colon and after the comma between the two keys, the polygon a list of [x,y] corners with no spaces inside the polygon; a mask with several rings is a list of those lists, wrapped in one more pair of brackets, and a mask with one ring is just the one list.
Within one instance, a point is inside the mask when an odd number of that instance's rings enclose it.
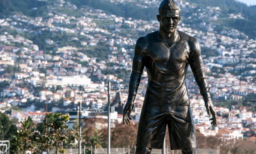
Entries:
{"label": "bronze statue's face with ears, below the spiky hair", "polygon": [[172,33],[176,30],[180,18],[179,10],[170,11],[163,9],[160,15],[157,15],[157,20],[160,22],[160,29],[166,33]]}

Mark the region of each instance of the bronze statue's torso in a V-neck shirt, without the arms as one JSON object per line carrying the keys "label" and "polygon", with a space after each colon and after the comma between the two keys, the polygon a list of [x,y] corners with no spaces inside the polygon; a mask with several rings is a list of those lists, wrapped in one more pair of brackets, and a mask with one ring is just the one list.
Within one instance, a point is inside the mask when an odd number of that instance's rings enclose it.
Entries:
{"label": "bronze statue's torso in a V-neck shirt, without the arms", "polygon": [[168,46],[157,39],[158,31],[148,34],[144,62],[148,86],[144,103],[157,105],[189,105],[185,84],[189,61],[188,35],[180,32],[180,40]]}

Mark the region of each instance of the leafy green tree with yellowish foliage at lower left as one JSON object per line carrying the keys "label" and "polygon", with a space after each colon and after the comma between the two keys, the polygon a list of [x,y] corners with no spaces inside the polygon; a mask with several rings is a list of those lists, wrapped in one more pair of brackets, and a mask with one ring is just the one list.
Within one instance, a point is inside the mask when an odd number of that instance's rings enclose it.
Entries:
{"label": "leafy green tree with yellowish foliage at lower left", "polygon": [[[44,122],[37,127],[37,129],[40,129],[44,133],[34,131],[35,126],[32,124],[33,121],[31,118],[22,122],[23,128],[18,131],[16,129],[11,140],[12,153],[23,154],[29,150],[33,154],[37,154],[44,149],[54,148],[56,149],[56,154],[58,154],[58,152],[65,153],[65,149],[63,149],[60,143],[70,143],[75,139],[79,139],[77,133],[68,130],[68,125],[66,125],[66,121],[69,119],[68,115],[62,115],[61,113],[47,113],[46,117],[48,118],[47,124],[44,120]],[[45,126],[50,128],[48,132],[45,132]]]}

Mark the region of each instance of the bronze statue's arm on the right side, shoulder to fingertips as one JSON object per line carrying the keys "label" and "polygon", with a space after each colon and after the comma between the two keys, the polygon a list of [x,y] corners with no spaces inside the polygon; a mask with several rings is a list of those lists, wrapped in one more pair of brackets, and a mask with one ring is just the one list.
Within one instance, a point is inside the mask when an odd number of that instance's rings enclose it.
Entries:
{"label": "bronze statue's arm on the right side, shoulder to fingertips", "polygon": [[197,39],[193,38],[190,41],[189,65],[193,72],[195,81],[199,87],[200,93],[203,96],[205,107],[208,114],[212,115],[211,124],[217,124],[217,115],[214,105],[211,101],[210,88],[204,73],[203,59],[201,57],[201,48]]}

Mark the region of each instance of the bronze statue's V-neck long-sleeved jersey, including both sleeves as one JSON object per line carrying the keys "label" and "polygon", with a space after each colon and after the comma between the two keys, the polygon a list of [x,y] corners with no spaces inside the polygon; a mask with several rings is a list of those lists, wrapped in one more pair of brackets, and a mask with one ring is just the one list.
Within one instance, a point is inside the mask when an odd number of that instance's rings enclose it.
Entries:
{"label": "bronze statue's V-neck long-sleeved jersey, including both sleeves", "polygon": [[[183,32],[178,32],[180,39],[172,46],[168,46],[157,38],[158,31],[139,38],[140,44],[137,41],[129,94],[136,95],[137,89],[136,86],[132,86],[135,85],[133,82],[138,81],[146,67],[148,85],[144,104],[189,105],[185,82],[189,64],[204,100],[210,99],[201,53],[195,53],[193,44],[191,45],[191,42],[198,43],[198,41]],[[197,45],[199,46],[199,43]]]}

